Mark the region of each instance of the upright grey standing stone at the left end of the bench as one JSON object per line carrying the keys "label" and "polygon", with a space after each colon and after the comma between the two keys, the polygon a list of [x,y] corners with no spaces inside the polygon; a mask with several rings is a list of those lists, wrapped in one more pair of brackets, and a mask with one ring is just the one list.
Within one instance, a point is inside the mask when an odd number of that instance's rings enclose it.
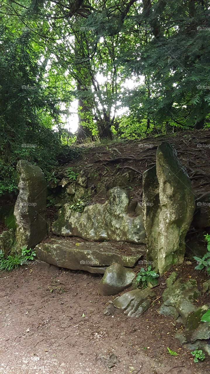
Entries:
{"label": "upright grey standing stone at the left end of the bench", "polygon": [[19,195],[15,203],[16,246],[33,248],[46,237],[46,190],[44,174],[38,166],[19,160]]}

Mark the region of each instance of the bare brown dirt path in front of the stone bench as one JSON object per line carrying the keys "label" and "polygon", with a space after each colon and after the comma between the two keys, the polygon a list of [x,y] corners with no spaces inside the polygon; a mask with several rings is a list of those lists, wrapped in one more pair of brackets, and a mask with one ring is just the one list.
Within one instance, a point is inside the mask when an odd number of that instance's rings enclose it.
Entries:
{"label": "bare brown dirt path in front of the stone bench", "polygon": [[[209,358],[194,364],[173,338],[172,320],[157,315],[158,301],[139,319],[105,316],[100,276],[28,269],[0,273],[0,373],[209,373]],[[167,346],[178,353],[167,353]],[[114,353],[109,369],[100,355]]]}

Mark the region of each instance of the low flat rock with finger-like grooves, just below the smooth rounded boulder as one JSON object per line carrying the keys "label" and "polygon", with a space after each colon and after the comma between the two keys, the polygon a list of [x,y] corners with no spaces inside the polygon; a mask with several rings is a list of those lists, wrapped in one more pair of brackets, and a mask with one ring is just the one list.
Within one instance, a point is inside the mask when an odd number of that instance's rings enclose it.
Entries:
{"label": "low flat rock with finger-like grooves, just below the smooth rounded boulder", "polygon": [[150,288],[133,289],[115,298],[113,304],[127,316],[139,317],[150,307],[154,297],[155,292]]}

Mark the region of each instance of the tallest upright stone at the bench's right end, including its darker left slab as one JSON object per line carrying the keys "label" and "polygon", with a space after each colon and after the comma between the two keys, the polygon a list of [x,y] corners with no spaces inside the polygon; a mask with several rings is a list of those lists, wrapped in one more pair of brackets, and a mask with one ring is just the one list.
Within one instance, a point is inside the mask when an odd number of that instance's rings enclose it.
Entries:
{"label": "tallest upright stone at the bench's right end, including its darker left slab", "polygon": [[175,149],[167,142],[157,148],[155,167],[143,173],[143,215],[147,259],[162,275],[181,264],[185,235],[192,222],[195,199],[191,182]]}

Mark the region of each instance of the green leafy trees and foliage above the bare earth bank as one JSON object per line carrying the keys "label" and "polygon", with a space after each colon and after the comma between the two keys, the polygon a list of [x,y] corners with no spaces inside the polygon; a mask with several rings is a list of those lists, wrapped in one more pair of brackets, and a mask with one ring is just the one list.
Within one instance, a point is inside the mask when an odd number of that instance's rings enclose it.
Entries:
{"label": "green leafy trees and foliage above the bare earth bank", "polygon": [[207,0],[2,0],[0,194],[19,158],[51,172],[75,99],[78,141],[209,127],[209,13]]}

